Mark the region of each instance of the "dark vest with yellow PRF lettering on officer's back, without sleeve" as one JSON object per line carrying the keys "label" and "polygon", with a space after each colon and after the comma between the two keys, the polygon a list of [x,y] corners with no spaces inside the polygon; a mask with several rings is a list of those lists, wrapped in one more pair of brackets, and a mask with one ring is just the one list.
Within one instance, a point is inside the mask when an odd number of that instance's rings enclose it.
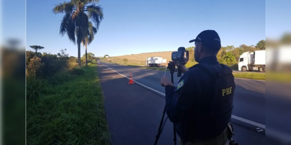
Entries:
{"label": "dark vest with yellow PRF lettering on officer's back, without sleeve", "polygon": [[186,131],[187,140],[191,141],[193,137],[207,140],[220,135],[230,122],[235,89],[234,76],[232,69],[224,64],[201,63],[190,69],[192,68],[201,69],[208,75],[208,79],[201,80],[201,93],[193,96],[196,100],[192,108],[193,115],[190,115],[190,120],[185,120],[185,124],[181,122],[184,124],[182,128]]}

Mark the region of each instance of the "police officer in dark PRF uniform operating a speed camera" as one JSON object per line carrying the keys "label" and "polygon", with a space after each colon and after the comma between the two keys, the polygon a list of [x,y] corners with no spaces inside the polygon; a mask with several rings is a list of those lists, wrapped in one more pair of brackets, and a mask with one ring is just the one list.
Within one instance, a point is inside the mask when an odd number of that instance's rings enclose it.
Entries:
{"label": "police officer in dark PRF uniform operating a speed camera", "polygon": [[229,122],[235,84],[232,69],[216,58],[220,37],[214,30],[205,30],[189,42],[195,42],[199,64],[189,69],[180,64],[184,75],[176,87],[162,77],[166,113],[176,124],[181,145],[228,145],[233,135]]}

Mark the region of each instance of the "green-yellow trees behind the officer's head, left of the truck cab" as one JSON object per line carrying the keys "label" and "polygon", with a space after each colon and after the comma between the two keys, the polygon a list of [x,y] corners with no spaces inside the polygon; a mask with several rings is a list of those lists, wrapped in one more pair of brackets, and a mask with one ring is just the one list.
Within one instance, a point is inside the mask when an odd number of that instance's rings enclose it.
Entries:
{"label": "green-yellow trees behind the officer's head, left of the truck cab", "polygon": [[[194,60],[194,48],[188,47],[186,50],[189,51],[189,61],[195,62]],[[241,44],[239,47],[234,46],[225,46],[221,47],[217,54],[217,59],[220,63],[226,64],[233,69],[237,69],[239,57],[243,52],[251,51],[254,52],[256,50],[265,50],[266,49],[266,41],[260,40],[256,45],[247,46],[245,44]]]}

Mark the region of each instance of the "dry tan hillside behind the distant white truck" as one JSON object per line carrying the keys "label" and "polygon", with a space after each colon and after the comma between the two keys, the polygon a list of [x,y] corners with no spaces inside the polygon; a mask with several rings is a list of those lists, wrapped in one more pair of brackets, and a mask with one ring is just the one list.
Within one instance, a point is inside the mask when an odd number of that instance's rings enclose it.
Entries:
{"label": "dry tan hillside behind the distant white truck", "polygon": [[164,52],[149,52],[141,54],[132,54],[132,55],[122,55],[109,57],[108,59],[114,62],[122,62],[122,59],[128,59],[128,63],[132,65],[145,65],[147,57],[163,57],[167,62],[171,61],[171,54],[173,51],[164,51]]}

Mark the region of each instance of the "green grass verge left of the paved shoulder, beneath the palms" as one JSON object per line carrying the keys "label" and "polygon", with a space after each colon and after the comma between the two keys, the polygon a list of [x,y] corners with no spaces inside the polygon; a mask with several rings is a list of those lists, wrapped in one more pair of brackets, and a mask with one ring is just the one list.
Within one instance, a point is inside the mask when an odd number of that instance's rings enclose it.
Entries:
{"label": "green grass verge left of the paved shoulder, beneath the palms", "polygon": [[27,144],[110,144],[97,66],[88,65],[81,75],[27,79]]}

